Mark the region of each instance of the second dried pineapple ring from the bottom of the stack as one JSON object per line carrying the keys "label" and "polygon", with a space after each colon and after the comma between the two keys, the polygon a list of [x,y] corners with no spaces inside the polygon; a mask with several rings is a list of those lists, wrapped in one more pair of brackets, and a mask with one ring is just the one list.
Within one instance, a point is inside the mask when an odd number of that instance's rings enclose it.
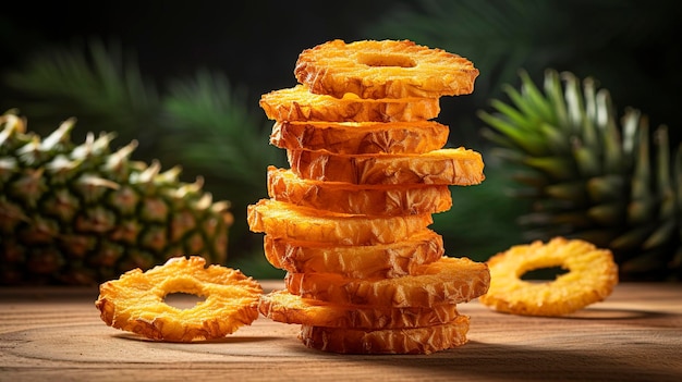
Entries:
{"label": "second dried pineapple ring from the bottom of the stack", "polygon": [[428,308],[338,305],[302,298],[287,291],[264,295],[258,310],[264,317],[283,323],[375,330],[434,325],[459,316],[454,304]]}

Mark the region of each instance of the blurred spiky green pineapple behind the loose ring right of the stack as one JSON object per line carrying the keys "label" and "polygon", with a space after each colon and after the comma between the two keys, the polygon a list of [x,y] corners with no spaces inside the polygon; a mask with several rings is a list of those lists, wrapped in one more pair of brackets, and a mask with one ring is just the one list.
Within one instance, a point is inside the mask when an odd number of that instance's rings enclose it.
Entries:
{"label": "blurred spiky green pineapple behind the loose ring right of the stack", "polygon": [[[511,103],[480,111],[484,135],[513,163],[532,211],[528,239],[563,235],[612,249],[622,280],[682,279],[682,145],[665,125],[649,137],[640,111],[618,121],[610,95],[593,79],[548,70],[544,91],[527,73]],[[620,123],[619,123],[620,122]]]}

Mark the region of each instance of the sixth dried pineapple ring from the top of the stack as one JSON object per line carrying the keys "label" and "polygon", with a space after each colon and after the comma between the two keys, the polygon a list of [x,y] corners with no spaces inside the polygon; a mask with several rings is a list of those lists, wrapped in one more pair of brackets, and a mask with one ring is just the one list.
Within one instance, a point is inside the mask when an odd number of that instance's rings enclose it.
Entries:
{"label": "sixth dried pineapple ring from the top of the stack", "polygon": [[343,245],[397,242],[434,222],[429,213],[375,218],[316,210],[273,199],[260,199],[249,205],[246,212],[253,232],[293,241]]}

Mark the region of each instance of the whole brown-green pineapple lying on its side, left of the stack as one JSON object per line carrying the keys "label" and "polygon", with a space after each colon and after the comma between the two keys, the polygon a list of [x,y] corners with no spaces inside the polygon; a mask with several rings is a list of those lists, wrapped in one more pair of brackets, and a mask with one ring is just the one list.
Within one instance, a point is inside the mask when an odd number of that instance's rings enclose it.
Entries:
{"label": "whole brown-green pineapple lying on its side, left of the stack", "polygon": [[132,161],[135,141],[72,143],[74,122],[41,139],[0,116],[0,284],[97,284],[179,255],[224,263],[227,201],[179,181],[179,168]]}

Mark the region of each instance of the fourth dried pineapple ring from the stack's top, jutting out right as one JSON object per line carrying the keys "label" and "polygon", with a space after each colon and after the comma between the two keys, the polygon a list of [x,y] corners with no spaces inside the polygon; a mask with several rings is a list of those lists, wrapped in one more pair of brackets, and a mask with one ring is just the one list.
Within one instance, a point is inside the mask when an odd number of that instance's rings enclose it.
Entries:
{"label": "fourth dried pineapple ring from the stack's top, jutting out right", "polygon": [[291,170],[300,177],[325,182],[468,186],[485,180],[480,153],[461,147],[417,155],[287,150],[287,157]]}

